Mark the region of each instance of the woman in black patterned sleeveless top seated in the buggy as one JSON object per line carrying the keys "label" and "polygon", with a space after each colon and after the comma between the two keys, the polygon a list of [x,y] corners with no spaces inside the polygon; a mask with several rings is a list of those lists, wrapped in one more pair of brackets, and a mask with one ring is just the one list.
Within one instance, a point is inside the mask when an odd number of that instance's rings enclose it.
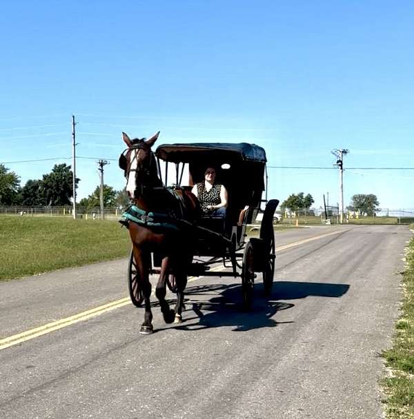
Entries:
{"label": "woman in black patterned sleeveless top seated in the buggy", "polygon": [[196,183],[191,192],[197,196],[203,214],[226,216],[227,190],[224,185],[215,183],[214,167],[207,167],[204,182]]}

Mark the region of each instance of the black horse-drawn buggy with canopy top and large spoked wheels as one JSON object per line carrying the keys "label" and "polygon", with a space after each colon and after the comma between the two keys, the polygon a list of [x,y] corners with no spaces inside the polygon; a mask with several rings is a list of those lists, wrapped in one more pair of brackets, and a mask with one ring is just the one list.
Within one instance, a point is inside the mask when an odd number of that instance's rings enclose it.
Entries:
{"label": "black horse-drawn buggy with canopy top and large spoked wheels", "polygon": [[[273,216],[279,201],[267,199],[265,150],[249,143],[164,144],[157,147],[155,156],[159,177],[171,190],[191,190],[204,179],[207,164],[221,168],[217,181],[228,190],[226,217],[203,215],[193,225],[194,256],[187,274],[241,278],[247,309],[253,303],[257,273],[262,273],[264,292],[270,294],[275,272]],[[259,234],[248,238],[246,229],[261,212]],[[223,270],[210,270],[221,261]],[[152,252],[149,274],[159,274],[160,263],[161,255]],[[168,277],[167,285],[175,292],[173,275]],[[139,307],[142,295],[133,252],[128,263],[128,289],[132,303]]]}

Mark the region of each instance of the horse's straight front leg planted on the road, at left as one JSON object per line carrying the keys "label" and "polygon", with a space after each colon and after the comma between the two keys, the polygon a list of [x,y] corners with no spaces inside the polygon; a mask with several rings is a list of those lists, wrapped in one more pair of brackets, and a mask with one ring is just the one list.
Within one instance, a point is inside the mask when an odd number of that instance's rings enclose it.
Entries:
{"label": "horse's straight front leg planted on the road, at left", "polygon": [[137,276],[139,278],[139,287],[144,295],[144,323],[141,325],[141,334],[151,334],[153,331],[152,327],[152,312],[151,312],[151,283],[148,274],[150,268],[150,254],[148,252],[142,252],[141,249],[134,245],[134,258],[137,265]]}

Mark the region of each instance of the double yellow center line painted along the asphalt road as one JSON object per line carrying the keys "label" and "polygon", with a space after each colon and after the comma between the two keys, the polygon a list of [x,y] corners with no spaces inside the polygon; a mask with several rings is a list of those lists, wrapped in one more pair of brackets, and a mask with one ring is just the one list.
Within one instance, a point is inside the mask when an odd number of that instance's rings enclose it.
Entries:
{"label": "double yellow center line painted along the asphalt road", "polygon": [[[297,241],[295,243],[290,243],[289,245],[284,245],[277,247],[275,249],[275,252],[282,252],[282,250],[289,249],[290,247],[295,247],[299,245],[303,245],[304,243],[308,243],[310,241],[317,240],[319,238],[332,236],[333,234],[338,234],[340,232],[343,232],[344,230],[328,233],[328,234],[322,234],[322,236],[315,236],[311,238],[306,238],[301,241]],[[214,267],[210,269],[210,271],[219,271],[222,267]],[[188,282],[193,282],[194,280],[197,280],[198,278],[202,278],[201,276],[193,276],[188,278]],[[152,295],[154,292],[152,292]],[[8,338],[0,339],[0,351],[1,349],[6,349],[8,347],[18,345],[19,343],[26,342],[26,340],[37,338],[38,336],[42,336],[45,334],[50,333],[51,331],[63,329],[63,327],[67,327],[70,325],[74,325],[75,323],[79,323],[83,320],[88,320],[88,318],[100,316],[103,313],[107,313],[108,311],[112,311],[115,309],[119,309],[121,307],[124,307],[125,305],[130,304],[130,298],[121,298],[121,300],[112,301],[112,303],[107,303],[104,305],[100,305],[99,307],[95,307],[94,309],[82,311],[81,313],[75,314],[74,316],[61,318],[60,320],[57,320],[52,323],[48,323],[46,325],[36,327],[34,329],[29,329],[26,331],[23,331],[19,334],[15,334],[12,336],[8,336]]]}

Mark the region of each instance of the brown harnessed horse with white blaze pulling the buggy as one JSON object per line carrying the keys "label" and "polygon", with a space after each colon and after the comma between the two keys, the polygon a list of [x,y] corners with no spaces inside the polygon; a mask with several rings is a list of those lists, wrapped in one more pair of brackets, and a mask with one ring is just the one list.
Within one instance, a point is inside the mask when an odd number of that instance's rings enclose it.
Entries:
{"label": "brown harnessed horse with white blaze pulling the buggy", "polygon": [[[131,140],[123,132],[122,139],[128,148],[119,157],[119,167],[124,170],[126,177],[126,191],[135,211],[135,218],[131,217],[132,221],[129,220],[127,224],[137,267],[137,283],[145,305],[141,334],[151,334],[153,331],[150,307],[152,287],[149,280],[151,252],[157,252],[161,257],[155,296],[164,320],[166,323],[182,322],[187,267],[193,260],[191,249],[194,234],[191,234],[191,229],[200,213],[195,195],[184,190],[173,192],[159,178],[157,161],[151,150],[158,136],[159,132],[149,139]],[[175,277],[177,303],[174,310],[166,301],[169,275]]]}

